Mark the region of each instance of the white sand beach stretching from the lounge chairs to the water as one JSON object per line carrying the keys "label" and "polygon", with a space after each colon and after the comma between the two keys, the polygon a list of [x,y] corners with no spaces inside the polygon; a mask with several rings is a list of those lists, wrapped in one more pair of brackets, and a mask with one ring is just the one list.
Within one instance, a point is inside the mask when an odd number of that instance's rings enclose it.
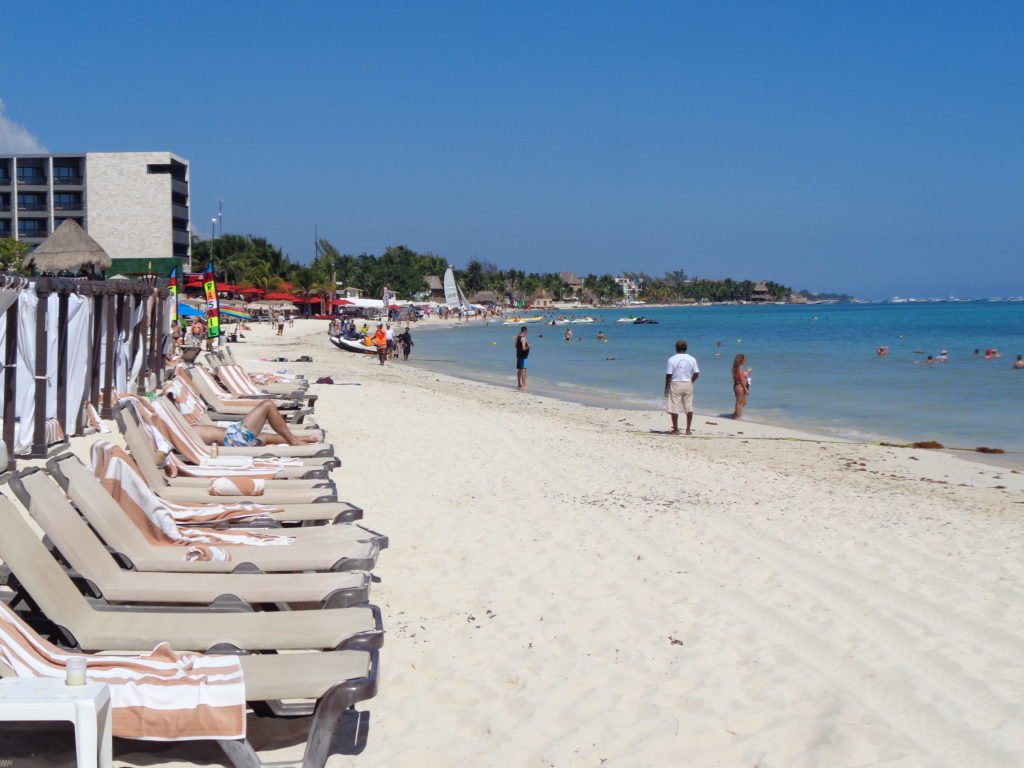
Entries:
{"label": "white sand beach stretching from the lounge chairs to the water", "polygon": [[[390,537],[369,743],[331,765],[1021,764],[1024,474],[699,415],[657,434],[662,413],[382,368],[325,329],[233,351],[334,377],[341,496]],[[313,362],[255,361],[279,354]],[[222,762],[138,748],[116,764]]]}

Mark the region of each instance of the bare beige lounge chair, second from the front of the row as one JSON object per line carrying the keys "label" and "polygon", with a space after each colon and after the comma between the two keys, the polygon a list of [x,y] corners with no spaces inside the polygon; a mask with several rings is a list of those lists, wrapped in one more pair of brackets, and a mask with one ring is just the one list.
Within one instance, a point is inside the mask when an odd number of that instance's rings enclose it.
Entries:
{"label": "bare beige lounge chair, second from the front of the row", "polygon": [[[13,478],[11,482],[16,482]],[[97,606],[84,597],[28,521],[0,495],[0,559],[10,568],[10,607],[24,604],[30,624],[53,625],[68,647],[85,651],[144,650],[166,642],[176,650],[369,649],[383,643],[374,605],[240,612],[213,608],[142,609]],[[37,627],[38,629],[38,627]]]}

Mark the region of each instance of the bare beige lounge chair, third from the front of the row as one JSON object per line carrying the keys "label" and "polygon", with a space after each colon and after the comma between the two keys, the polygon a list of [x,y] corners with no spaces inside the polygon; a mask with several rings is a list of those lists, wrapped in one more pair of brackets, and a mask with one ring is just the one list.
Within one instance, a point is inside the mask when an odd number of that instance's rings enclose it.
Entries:
{"label": "bare beige lounge chair, third from the front of the row", "polygon": [[[68,464],[77,464],[85,469],[77,459]],[[73,476],[76,485],[86,480],[81,474]],[[127,570],[115,559],[115,553],[122,554],[118,547],[112,546],[110,550],[104,547],[72,501],[59,490],[57,494],[48,493],[44,482],[55,486],[56,481],[41,471],[23,474],[12,490],[46,535],[43,543],[48,544],[58,561],[66,563],[69,574],[80,588],[87,590],[86,594],[94,601],[102,600],[108,604],[216,603],[248,609],[266,604],[284,609],[290,604],[344,608],[364,604],[370,598],[370,574],[365,570],[284,574],[206,573],[191,569],[189,561],[180,562],[180,568],[175,572]],[[86,485],[85,493],[98,495],[102,492],[98,484]],[[102,527],[106,527],[105,518]],[[127,564],[123,556],[120,559]]]}

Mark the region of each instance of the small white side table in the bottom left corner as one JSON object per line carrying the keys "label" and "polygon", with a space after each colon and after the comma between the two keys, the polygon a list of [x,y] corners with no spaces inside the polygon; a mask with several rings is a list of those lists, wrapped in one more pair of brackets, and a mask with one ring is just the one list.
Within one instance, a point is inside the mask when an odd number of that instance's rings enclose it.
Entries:
{"label": "small white side table in the bottom left corner", "polygon": [[69,720],[75,724],[78,768],[111,766],[111,689],[106,683],[65,685],[59,678],[3,678],[0,720]]}

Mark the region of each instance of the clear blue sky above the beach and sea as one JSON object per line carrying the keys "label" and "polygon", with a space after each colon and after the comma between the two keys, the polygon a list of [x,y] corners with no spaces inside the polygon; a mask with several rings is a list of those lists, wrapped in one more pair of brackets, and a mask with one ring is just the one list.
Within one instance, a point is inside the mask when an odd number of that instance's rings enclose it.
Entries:
{"label": "clear blue sky above the beach and sea", "polygon": [[191,164],[196,229],[222,198],[225,231],[296,260],[316,225],[343,252],[408,245],[456,266],[1024,294],[1021,3],[3,16],[0,143],[169,150]]}

